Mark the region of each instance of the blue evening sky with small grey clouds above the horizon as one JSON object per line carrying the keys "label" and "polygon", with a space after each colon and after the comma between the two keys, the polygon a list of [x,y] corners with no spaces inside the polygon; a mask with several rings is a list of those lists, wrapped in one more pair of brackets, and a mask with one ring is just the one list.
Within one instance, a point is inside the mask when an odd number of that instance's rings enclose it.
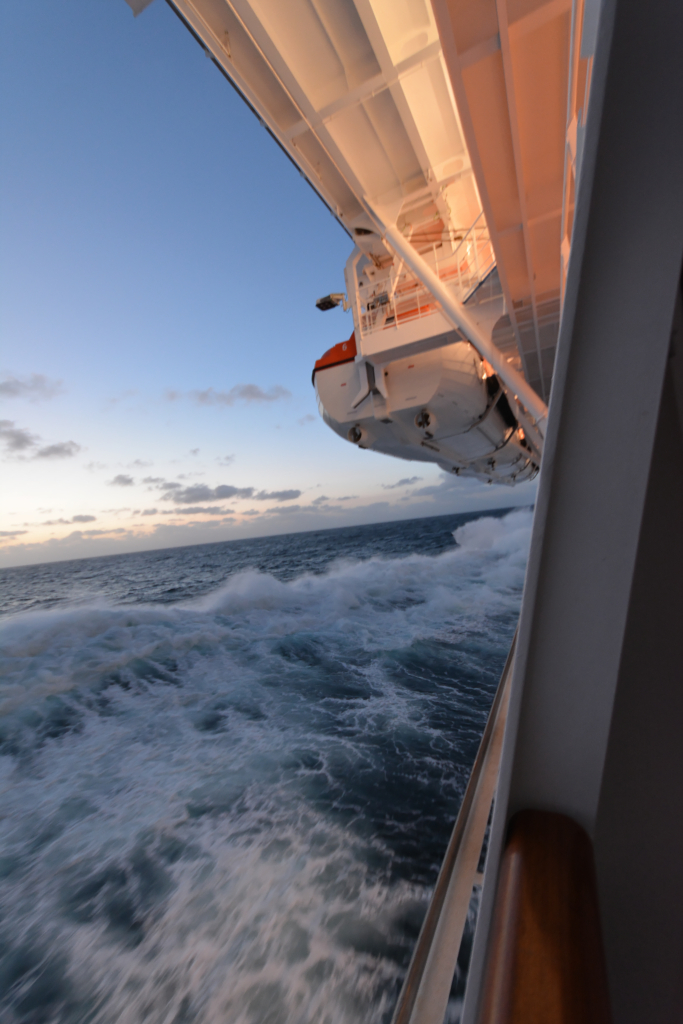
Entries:
{"label": "blue evening sky with small grey clouds above the horizon", "polygon": [[532,503],[325,426],[352,243],[163,0],[0,66],[0,566]]}

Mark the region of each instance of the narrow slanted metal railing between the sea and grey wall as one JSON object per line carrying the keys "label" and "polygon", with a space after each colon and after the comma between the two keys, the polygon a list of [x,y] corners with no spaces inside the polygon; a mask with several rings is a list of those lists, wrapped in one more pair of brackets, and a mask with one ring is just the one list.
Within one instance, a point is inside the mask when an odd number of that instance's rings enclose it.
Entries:
{"label": "narrow slanted metal railing between the sea and grey wall", "polygon": [[443,1024],[498,781],[516,641],[515,633],[392,1024]]}

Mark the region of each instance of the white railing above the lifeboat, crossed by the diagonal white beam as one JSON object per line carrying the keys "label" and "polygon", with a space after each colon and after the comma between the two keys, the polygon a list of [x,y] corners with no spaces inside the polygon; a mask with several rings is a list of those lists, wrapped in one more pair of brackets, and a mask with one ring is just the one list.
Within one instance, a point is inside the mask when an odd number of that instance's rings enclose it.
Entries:
{"label": "white railing above the lifeboat, crossed by the diagonal white beam", "polygon": [[[416,248],[458,301],[466,302],[496,265],[483,213],[455,241],[455,248],[449,240],[433,243],[429,248]],[[387,278],[359,287],[357,301],[361,337],[429,316],[438,308],[431,292],[399,260],[394,262]]]}

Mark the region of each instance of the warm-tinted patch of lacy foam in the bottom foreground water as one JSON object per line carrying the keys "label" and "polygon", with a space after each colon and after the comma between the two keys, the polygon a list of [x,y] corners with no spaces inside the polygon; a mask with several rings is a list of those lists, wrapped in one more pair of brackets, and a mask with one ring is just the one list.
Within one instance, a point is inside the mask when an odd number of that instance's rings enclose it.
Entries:
{"label": "warm-tinted patch of lacy foam in the bottom foreground water", "polygon": [[370,1007],[381,1019],[399,975],[381,955],[386,934],[424,893],[373,883],[349,837],[310,811],[274,809],[268,826],[242,840],[207,830],[207,859],[179,865],[136,949],[113,950],[94,930],[77,937],[81,985],[105,999],[97,1022],[161,1024],[188,1005],[206,1024],[350,1024]]}

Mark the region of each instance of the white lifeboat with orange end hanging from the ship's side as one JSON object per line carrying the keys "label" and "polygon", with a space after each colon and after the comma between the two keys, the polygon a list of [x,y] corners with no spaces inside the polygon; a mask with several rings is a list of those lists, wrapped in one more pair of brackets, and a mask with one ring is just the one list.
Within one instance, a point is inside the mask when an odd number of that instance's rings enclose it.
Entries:
{"label": "white lifeboat with orange end hanging from the ship's side", "polygon": [[312,376],[323,419],[359,449],[489,483],[519,483],[539,471],[514,401],[467,341],[380,362],[358,354],[352,334]]}

